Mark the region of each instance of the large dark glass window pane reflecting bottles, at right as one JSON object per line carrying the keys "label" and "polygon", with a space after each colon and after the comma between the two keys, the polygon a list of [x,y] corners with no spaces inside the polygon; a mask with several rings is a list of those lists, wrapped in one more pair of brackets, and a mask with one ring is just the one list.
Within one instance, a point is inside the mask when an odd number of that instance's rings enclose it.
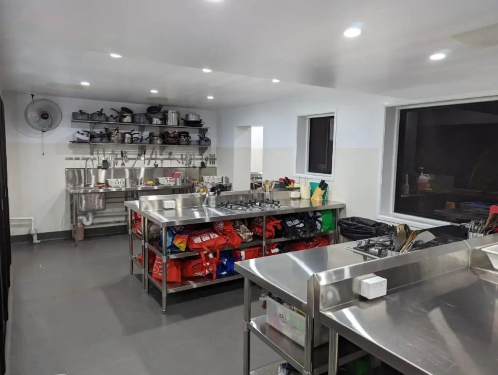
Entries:
{"label": "large dark glass window pane reflecting bottles, at right", "polygon": [[468,222],[498,204],[498,101],[400,111],[397,213]]}

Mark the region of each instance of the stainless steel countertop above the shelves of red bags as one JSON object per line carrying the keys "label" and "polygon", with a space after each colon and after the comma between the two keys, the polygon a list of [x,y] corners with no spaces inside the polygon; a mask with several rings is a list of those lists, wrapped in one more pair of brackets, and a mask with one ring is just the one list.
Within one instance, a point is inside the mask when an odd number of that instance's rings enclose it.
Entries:
{"label": "stainless steel countertop above the shelves of red bags", "polygon": [[258,216],[268,216],[268,215],[282,215],[291,214],[296,212],[307,212],[307,211],[320,211],[327,209],[337,209],[344,208],[346,205],[339,202],[325,202],[317,203],[311,200],[290,200],[283,199],[280,200],[280,204],[285,207],[281,207],[274,210],[268,211],[244,211],[244,212],[234,212],[222,207],[209,208],[209,207],[182,207],[169,210],[150,210],[142,211],[138,207],[138,202],[133,201],[124,202],[126,207],[131,208],[133,211],[143,215],[148,220],[153,223],[163,226],[170,227],[172,225],[187,225],[187,224],[198,224],[198,223],[209,223],[220,220],[234,220],[243,218],[254,218]]}

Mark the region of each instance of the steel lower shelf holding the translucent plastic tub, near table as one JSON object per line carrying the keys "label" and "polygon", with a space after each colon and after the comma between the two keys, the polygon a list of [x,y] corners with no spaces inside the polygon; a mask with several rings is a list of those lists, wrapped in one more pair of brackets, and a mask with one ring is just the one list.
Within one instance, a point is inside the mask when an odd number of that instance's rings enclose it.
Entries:
{"label": "steel lower shelf holding the translucent plastic tub, near table", "polygon": [[[304,371],[304,348],[266,323],[266,315],[252,318],[248,326],[249,330],[255,336],[273,349],[284,361],[290,363],[299,372],[302,373]],[[367,352],[343,337],[339,338],[338,352],[339,366],[343,366],[367,354]],[[329,359],[329,345],[323,344],[316,347],[313,357],[315,368],[313,373],[322,374],[326,372]]]}

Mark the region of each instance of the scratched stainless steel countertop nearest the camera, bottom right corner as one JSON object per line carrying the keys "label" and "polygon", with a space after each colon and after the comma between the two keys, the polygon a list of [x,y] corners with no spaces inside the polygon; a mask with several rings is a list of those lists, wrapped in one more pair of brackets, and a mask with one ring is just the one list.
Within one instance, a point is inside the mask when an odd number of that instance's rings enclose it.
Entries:
{"label": "scratched stainless steel countertop nearest the camera, bottom right corner", "polygon": [[403,374],[496,375],[497,284],[497,273],[463,268],[318,320]]}

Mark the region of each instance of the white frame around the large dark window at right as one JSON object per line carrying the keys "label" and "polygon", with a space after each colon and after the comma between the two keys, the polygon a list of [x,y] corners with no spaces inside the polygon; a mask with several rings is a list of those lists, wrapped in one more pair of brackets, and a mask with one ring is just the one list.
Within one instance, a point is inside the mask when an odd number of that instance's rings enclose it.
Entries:
{"label": "white frame around the large dark window at right", "polygon": [[[451,224],[450,222],[428,219],[420,216],[400,214],[394,212],[394,199],[396,194],[396,163],[398,159],[398,140],[399,140],[399,116],[401,110],[412,109],[412,108],[428,108],[428,107],[438,107],[453,104],[466,104],[466,103],[478,103],[478,102],[490,102],[498,100],[498,95],[494,96],[482,96],[474,98],[462,98],[462,99],[448,99],[440,101],[427,101],[420,103],[410,103],[406,105],[388,106],[387,111],[395,110],[394,124],[385,117],[384,124],[384,137],[382,138],[382,155],[380,158],[379,165],[379,188],[377,189],[377,220],[392,224],[406,223],[410,227],[414,228],[432,228],[441,225]],[[392,120],[392,119],[391,119]],[[386,138],[389,134],[394,134],[393,139],[389,140]],[[387,141],[387,142],[386,142]],[[386,155],[386,153],[392,153],[392,155]],[[384,172],[386,172],[384,174]],[[382,190],[386,189],[387,194],[382,197]]]}

